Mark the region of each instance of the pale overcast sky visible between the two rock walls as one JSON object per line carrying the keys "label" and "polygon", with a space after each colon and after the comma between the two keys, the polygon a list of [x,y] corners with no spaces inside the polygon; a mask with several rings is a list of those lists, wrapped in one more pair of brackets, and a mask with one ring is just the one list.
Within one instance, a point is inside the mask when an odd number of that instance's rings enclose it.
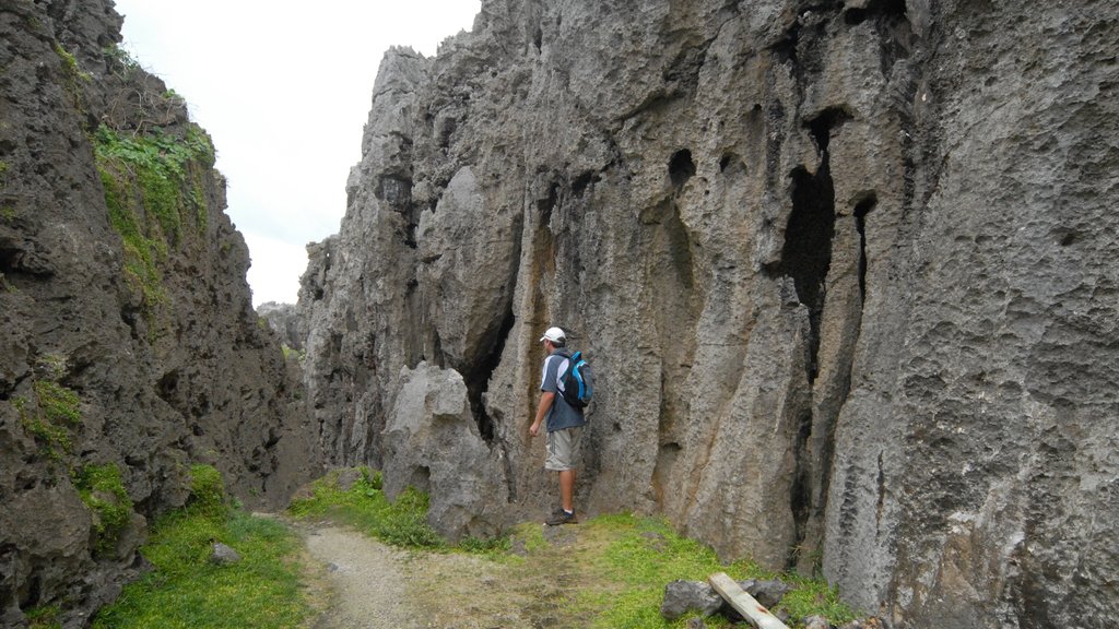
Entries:
{"label": "pale overcast sky visible between the two rock walls", "polygon": [[123,48],[214,138],[253,304],[294,303],[309,242],[338,232],[389,46],[433,56],[480,0],[116,0]]}

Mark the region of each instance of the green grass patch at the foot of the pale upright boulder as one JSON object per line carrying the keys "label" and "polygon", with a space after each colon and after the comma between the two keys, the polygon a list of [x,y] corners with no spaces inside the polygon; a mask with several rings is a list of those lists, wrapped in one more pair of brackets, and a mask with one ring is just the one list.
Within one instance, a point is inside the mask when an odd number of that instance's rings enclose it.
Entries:
{"label": "green grass patch at the foot of the pale upright boulder", "polygon": [[316,481],[312,495],[293,500],[289,514],[342,522],[393,546],[446,547],[446,542],[427,525],[426,494],[410,487],[391,503],[382,490],[380,472],[368,468],[360,468],[359,478],[348,489],[338,486],[338,478],[339,472],[332,472]]}

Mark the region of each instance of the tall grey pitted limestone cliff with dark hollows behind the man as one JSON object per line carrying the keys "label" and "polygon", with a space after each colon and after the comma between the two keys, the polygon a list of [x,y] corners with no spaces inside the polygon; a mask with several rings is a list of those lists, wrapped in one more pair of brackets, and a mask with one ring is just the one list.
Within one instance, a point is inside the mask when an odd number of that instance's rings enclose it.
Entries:
{"label": "tall grey pitted limestone cliff with dark hollows behind the man", "polygon": [[463,472],[539,514],[560,325],[596,375],[584,511],[897,627],[1108,626],[1116,9],[486,0],[391,51],[301,293],[327,456],[422,478],[399,374],[453,370],[444,456],[485,443]]}

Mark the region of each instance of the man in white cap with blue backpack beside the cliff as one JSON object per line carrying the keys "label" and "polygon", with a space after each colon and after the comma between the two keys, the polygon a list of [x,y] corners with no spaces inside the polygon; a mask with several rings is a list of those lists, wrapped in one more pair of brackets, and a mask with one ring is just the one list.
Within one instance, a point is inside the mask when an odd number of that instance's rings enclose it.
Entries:
{"label": "man in white cap with blue backpack beside the cliff", "polygon": [[561,508],[545,524],[575,524],[575,461],[579,459],[583,436],[583,410],[572,406],[563,397],[562,378],[571,367],[571,354],[565,349],[567,335],[560,328],[548,328],[540,337],[547,358],[544,359],[544,378],[540,383],[540,403],[528,433],[536,436],[547,417],[547,450],[544,469],[560,472]]}

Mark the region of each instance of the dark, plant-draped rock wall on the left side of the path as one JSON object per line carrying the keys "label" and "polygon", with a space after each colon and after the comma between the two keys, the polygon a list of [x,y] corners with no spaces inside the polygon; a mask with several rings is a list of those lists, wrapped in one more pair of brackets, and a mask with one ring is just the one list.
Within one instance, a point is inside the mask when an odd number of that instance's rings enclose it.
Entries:
{"label": "dark, plant-draped rock wall on the left side of the path", "polygon": [[[2,627],[35,608],[84,626],[142,569],[147,523],[184,504],[192,464],[248,507],[319,471],[208,138],[119,51],[120,26],[110,1],[0,2]],[[95,157],[109,137],[197,151],[159,188]],[[112,536],[81,498],[107,469],[132,505]]]}

